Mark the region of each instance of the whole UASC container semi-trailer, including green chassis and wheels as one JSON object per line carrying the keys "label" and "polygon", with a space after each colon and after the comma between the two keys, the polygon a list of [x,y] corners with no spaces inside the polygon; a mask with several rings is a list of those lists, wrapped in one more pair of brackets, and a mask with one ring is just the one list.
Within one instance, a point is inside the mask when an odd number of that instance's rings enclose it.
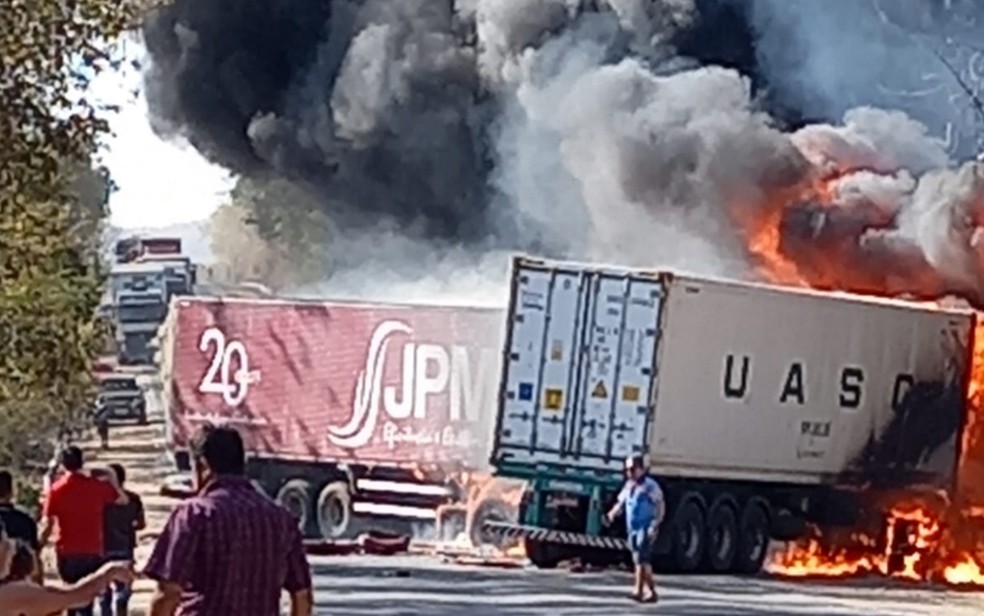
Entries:
{"label": "whole UASC container semi-trailer, including green chassis and wheels", "polygon": [[954,487],[970,311],[518,258],[506,321],[491,463],[530,489],[485,530],[541,567],[625,549],[629,455],[680,572],[756,572],[807,524],[901,536],[886,498]]}

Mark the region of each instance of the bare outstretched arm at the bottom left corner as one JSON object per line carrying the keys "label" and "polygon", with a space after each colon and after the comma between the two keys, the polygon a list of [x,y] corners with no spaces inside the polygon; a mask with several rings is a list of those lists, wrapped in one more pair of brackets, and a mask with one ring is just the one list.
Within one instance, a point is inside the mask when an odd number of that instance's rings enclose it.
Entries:
{"label": "bare outstretched arm at the bottom left corner", "polygon": [[2,614],[52,614],[90,603],[113,581],[129,582],[133,574],[123,563],[108,563],[99,571],[64,587],[13,582],[0,588]]}

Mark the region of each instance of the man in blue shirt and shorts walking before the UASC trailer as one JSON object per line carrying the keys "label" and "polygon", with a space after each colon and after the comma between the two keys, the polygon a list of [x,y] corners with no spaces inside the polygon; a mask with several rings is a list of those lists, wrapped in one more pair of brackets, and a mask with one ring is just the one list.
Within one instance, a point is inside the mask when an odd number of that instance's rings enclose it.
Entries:
{"label": "man in blue shirt and shorts walking before the UASC trailer", "polygon": [[[625,510],[629,550],[635,565],[635,592],[632,598],[644,603],[656,603],[652,556],[656,532],[666,513],[663,489],[646,473],[646,463],[642,456],[630,456],[626,459],[625,474],[625,487],[619,493],[615,506],[608,512],[608,522],[614,522],[622,510]],[[649,594],[645,595],[647,590]]]}

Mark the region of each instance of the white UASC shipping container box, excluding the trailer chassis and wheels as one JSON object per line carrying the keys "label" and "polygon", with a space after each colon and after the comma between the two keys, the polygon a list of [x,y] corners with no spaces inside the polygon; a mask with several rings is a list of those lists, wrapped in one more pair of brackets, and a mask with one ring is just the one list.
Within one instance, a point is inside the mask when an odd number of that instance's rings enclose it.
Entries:
{"label": "white UASC shipping container box, excluding the trailer chassis and wheels", "polygon": [[948,485],[969,311],[520,258],[493,464]]}

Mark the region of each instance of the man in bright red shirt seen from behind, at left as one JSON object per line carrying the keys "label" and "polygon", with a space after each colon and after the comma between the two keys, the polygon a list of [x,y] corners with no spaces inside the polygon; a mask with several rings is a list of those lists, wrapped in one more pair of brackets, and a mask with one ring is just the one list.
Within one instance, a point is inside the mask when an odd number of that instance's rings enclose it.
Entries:
{"label": "man in bright red shirt seen from behind, at left", "polygon": [[[69,584],[99,570],[103,554],[103,516],[110,505],[125,505],[126,493],[116,483],[116,475],[107,473],[96,479],[82,471],[82,450],[68,447],[61,454],[65,474],[51,485],[44,500],[40,544],[48,542],[58,527],[55,557],[58,574]],[[68,611],[69,616],[92,616],[92,604]]]}

